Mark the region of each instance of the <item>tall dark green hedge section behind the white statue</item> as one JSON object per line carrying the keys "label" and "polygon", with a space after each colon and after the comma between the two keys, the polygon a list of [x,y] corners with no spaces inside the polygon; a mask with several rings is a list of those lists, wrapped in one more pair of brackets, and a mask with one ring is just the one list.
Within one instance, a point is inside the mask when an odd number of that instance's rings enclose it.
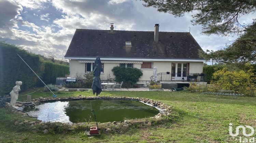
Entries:
{"label": "tall dark green hedge section behind the white statue", "polygon": [[43,75],[44,62],[39,55],[29,53],[12,44],[0,42],[0,95],[10,93],[16,81],[23,82],[21,91],[37,84],[37,76],[18,57],[17,53],[38,76]]}

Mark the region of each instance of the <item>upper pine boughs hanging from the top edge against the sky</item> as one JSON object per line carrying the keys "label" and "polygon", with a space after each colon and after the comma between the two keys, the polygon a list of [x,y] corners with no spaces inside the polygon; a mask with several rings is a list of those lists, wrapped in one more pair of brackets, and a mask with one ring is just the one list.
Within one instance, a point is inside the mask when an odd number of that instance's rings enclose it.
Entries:
{"label": "upper pine boughs hanging from the top edge against the sky", "polygon": [[254,13],[256,0],[142,0],[144,6],[155,7],[159,12],[183,16],[185,13],[197,11],[191,20],[193,25],[202,25],[205,34],[228,35],[241,32],[243,23],[239,23],[242,15]]}

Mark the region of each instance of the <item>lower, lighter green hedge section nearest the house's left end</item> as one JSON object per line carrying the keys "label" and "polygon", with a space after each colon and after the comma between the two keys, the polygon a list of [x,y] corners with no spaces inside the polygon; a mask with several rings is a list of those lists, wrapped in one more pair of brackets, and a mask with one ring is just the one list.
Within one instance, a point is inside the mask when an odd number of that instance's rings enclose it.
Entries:
{"label": "lower, lighter green hedge section nearest the house's left end", "polygon": [[64,77],[69,73],[69,66],[53,62],[45,62],[43,81],[45,84],[55,84],[56,77]]}

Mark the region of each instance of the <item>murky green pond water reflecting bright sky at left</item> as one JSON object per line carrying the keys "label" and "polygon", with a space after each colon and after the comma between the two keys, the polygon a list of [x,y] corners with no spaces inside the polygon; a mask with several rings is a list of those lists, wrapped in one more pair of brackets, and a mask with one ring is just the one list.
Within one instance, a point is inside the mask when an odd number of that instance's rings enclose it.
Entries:
{"label": "murky green pond water reflecting bright sky at left", "polygon": [[[155,116],[159,111],[139,101],[132,100],[71,100],[41,103],[26,107],[29,116],[43,122],[88,122],[91,109],[98,122],[124,121],[125,119]],[[92,114],[90,122],[94,122]]]}

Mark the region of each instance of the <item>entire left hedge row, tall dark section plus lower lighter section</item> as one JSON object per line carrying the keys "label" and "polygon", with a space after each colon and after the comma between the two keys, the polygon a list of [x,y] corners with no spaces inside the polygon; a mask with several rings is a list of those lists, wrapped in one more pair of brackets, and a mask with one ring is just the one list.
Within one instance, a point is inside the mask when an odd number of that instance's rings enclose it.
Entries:
{"label": "entire left hedge row, tall dark section plus lower lighter section", "polygon": [[9,94],[16,81],[22,81],[21,91],[43,85],[17,53],[46,84],[54,84],[56,77],[63,77],[69,73],[67,65],[46,62],[41,55],[29,53],[20,47],[0,41],[0,96]]}

